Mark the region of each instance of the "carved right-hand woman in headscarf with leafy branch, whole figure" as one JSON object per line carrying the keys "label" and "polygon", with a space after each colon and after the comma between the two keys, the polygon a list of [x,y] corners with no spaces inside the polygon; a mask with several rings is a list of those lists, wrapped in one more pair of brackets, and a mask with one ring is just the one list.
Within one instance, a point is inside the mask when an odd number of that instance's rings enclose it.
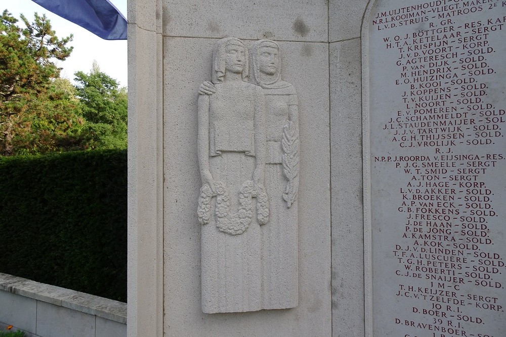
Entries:
{"label": "carved right-hand woman in headscarf with leafy branch, whole figure", "polygon": [[250,82],[266,100],[265,185],[270,220],[262,227],[263,308],[298,304],[299,107],[293,85],[281,79],[276,42],[259,40],[249,47]]}

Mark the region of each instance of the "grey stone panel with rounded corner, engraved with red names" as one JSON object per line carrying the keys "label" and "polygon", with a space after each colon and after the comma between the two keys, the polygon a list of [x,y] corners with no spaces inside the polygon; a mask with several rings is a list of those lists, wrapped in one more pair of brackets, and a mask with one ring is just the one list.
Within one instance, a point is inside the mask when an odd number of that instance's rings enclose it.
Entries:
{"label": "grey stone panel with rounded corner, engraved with red names", "polygon": [[369,333],[504,335],[506,3],[378,0],[369,11]]}

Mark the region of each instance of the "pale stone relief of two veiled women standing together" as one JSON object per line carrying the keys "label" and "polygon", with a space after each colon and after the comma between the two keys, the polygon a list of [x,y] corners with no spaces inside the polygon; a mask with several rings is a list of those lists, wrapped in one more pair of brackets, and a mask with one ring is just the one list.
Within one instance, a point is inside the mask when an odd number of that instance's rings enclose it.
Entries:
{"label": "pale stone relief of two veiled women standing together", "polygon": [[280,65],[274,41],[224,38],[199,88],[204,313],[298,304],[299,112]]}

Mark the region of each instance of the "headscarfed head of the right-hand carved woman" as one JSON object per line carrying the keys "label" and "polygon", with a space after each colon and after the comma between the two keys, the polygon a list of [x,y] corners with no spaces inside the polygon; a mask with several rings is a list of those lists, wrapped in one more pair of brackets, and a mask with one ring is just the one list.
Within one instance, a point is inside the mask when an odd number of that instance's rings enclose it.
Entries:
{"label": "headscarfed head of the right-hand carved woman", "polygon": [[281,55],[272,40],[258,40],[249,47],[252,82],[257,85],[273,84],[280,79]]}

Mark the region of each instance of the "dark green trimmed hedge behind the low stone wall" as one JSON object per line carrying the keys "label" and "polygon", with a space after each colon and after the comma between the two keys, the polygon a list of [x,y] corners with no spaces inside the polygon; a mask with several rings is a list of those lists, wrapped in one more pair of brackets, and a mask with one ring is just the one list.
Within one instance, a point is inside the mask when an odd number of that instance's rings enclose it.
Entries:
{"label": "dark green trimmed hedge behind the low stone wall", "polygon": [[0,157],[0,271],[126,302],[126,150]]}

